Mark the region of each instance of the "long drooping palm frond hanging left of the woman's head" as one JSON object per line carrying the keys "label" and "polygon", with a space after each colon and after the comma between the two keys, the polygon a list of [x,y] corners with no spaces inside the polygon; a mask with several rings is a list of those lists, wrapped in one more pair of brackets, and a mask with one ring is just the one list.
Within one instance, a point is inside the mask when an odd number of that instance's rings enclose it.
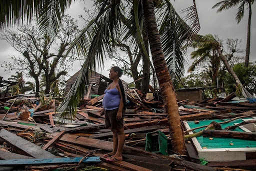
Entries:
{"label": "long drooping palm frond hanging left of the woman's head", "polygon": [[[93,23],[89,23],[83,30],[83,34],[80,34],[75,40],[76,43],[73,44],[79,54],[86,55],[86,58],[77,79],[56,109],[60,118],[64,118],[67,114],[70,118],[74,116],[79,100],[83,97],[90,71],[95,69],[96,64],[102,68],[103,57],[111,52],[111,44],[118,39],[116,36],[119,35],[123,19],[120,3],[111,3],[103,9],[101,16],[98,15]],[[67,109],[74,112],[65,112]]]}

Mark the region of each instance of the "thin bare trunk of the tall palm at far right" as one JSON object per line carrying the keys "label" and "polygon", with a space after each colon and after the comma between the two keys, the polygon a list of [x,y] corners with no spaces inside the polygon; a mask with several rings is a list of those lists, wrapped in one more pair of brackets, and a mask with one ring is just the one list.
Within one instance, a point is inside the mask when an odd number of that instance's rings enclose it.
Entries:
{"label": "thin bare trunk of the tall palm at far right", "polygon": [[249,16],[247,23],[247,38],[246,38],[246,50],[245,50],[245,67],[248,67],[249,64],[249,55],[250,55],[250,20],[251,20],[251,3],[248,2],[249,5]]}

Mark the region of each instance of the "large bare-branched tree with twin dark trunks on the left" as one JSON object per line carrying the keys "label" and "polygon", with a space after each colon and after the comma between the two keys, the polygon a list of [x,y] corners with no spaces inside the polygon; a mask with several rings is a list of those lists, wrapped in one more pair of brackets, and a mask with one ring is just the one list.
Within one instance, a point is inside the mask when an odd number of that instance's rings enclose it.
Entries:
{"label": "large bare-branched tree with twin dark trunks on the left", "polygon": [[41,36],[37,27],[29,25],[18,28],[18,31],[1,32],[0,38],[6,40],[24,57],[11,56],[12,62],[4,62],[1,66],[6,70],[26,71],[28,76],[35,80],[36,92],[40,90],[40,77],[44,75],[46,82],[44,91],[49,93],[50,84],[67,73],[69,66],[63,64],[60,66],[59,63],[62,62],[64,52],[77,31],[75,21],[66,15],[54,39],[46,35]]}

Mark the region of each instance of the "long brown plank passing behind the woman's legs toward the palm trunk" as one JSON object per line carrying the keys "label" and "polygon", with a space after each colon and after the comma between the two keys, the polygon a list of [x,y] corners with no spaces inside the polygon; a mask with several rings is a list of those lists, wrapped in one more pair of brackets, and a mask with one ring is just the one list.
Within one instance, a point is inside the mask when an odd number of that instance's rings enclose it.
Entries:
{"label": "long brown plank passing behind the woman's legs toward the palm trunk", "polygon": [[[144,131],[153,131],[156,129],[161,129],[164,128],[165,126],[158,126],[158,125],[153,125],[153,126],[144,126],[144,127],[138,127],[134,129],[126,129],[124,130],[124,133],[136,133],[136,132],[144,132]],[[90,135],[90,138],[105,138],[112,136],[112,132],[105,132],[105,133],[97,133],[94,135]]]}

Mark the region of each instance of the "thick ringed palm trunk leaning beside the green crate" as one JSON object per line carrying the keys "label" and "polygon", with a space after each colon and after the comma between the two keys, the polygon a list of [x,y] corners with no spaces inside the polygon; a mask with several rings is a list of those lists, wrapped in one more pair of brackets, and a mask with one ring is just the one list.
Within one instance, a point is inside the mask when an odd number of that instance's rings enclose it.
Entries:
{"label": "thick ringed palm trunk leaning beside the green crate", "polygon": [[153,0],[142,0],[142,5],[153,65],[165,102],[164,106],[165,112],[167,112],[171,145],[176,153],[185,154],[186,149],[184,145],[183,129],[178,113],[176,95],[162,51],[159,30],[155,19]]}

